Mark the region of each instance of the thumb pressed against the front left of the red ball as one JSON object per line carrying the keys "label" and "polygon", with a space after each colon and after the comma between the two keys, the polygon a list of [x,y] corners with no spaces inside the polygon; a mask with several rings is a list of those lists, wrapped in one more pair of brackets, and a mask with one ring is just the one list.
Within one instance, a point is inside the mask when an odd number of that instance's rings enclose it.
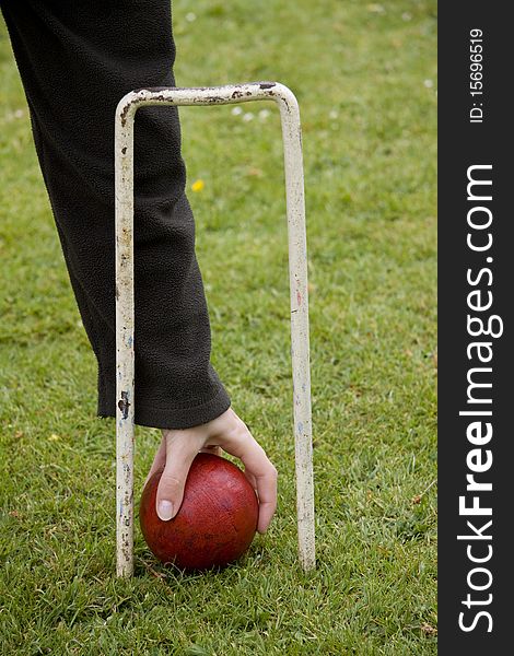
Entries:
{"label": "thumb pressed against the front left of the red ball", "polygon": [[159,481],[156,513],[160,519],[173,519],[184,499],[184,487],[195,456],[199,450],[196,440],[166,437],[166,465]]}

